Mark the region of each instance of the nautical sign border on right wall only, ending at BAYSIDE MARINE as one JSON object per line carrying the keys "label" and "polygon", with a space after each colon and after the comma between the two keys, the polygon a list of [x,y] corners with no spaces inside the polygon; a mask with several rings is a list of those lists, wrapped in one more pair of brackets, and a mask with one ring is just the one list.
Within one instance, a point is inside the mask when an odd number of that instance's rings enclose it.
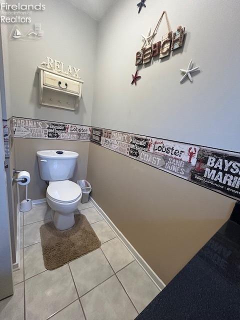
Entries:
{"label": "nautical sign border on right wall only, ending at BAYSIDE MARINE", "polygon": [[240,153],[98,127],[91,142],[240,199]]}

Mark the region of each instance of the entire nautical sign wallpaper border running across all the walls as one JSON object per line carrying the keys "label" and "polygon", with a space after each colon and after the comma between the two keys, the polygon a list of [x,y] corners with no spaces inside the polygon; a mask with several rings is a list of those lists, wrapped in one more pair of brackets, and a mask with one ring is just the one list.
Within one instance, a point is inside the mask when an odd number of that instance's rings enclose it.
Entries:
{"label": "entire nautical sign wallpaper border running across all the walls", "polygon": [[90,141],[234,199],[240,199],[240,153],[109,130],[12,117],[3,120],[5,156],[13,137]]}

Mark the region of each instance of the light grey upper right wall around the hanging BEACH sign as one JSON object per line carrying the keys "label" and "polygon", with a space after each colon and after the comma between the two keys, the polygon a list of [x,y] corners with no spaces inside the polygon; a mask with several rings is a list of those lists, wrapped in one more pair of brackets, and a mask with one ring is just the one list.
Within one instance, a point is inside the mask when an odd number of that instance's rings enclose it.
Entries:
{"label": "light grey upper right wall around the hanging BEACH sign", "polygon": [[[99,24],[92,125],[239,151],[238,0],[117,1]],[[166,10],[172,30],[186,27],[183,50],[142,68],[131,86],[135,53]],[[167,32],[163,19],[155,40]],[[190,59],[193,83],[179,83]]]}

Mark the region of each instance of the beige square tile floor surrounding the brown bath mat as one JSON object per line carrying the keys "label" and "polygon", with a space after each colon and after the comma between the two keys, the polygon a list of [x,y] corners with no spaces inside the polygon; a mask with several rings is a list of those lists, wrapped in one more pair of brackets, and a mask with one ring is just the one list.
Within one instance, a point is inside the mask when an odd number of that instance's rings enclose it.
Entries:
{"label": "beige square tile floor surrounding the brown bath mat", "polygon": [[20,216],[20,269],[14,295],[0,301],[0,320],[133,320],[159,290],[91,203],[80,203],[101,247],[45,269],[39,227],[46,203]]}

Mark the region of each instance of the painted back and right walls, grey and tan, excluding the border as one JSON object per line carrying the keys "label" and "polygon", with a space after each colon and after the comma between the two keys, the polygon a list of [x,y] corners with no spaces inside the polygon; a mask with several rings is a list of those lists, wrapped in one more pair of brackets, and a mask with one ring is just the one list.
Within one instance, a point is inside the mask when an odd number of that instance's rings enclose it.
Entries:
{"label": "painted back and right walls, grey and tan, excluding the border", "polygon": [[[169,59],[141,68],[141,80],[131,86],[140,34],[154,28],[166,8],[173,30],[179,24],[186,27],[184,47]],[[95,21],[67,1],[48,0],[44,12],[32,14],[33,23],[41,22],[44,37],[8,43],[13,115],[86,125],[91,121],[99,127],[238,151],[234,137],[239,126],[240,42],[233,31],[239,24],[238,12],[235,0],[152,0],[137,14],[135,1],[121,0],[99,23],[97,37]],[[22,25],[22,30],[27,27]],[[156,40],[165,32],[164,20]],[[234,43],[234,50],[228,49],[229,43]],[[76,112],[38,104],[35,71],[46,55],[80,68],[84,84]],[[191,58],[201,71],[193,83],[180,85],[179,68]],[[92,143],[18,138],[16,166],[31,174],[30,198],[45,197],[36,151],[57,148],[79,153],[73,180],[85,178],[87,169],[93,198],[165,283],[222,225],[233,207],[234,201],[223,195]]]}

